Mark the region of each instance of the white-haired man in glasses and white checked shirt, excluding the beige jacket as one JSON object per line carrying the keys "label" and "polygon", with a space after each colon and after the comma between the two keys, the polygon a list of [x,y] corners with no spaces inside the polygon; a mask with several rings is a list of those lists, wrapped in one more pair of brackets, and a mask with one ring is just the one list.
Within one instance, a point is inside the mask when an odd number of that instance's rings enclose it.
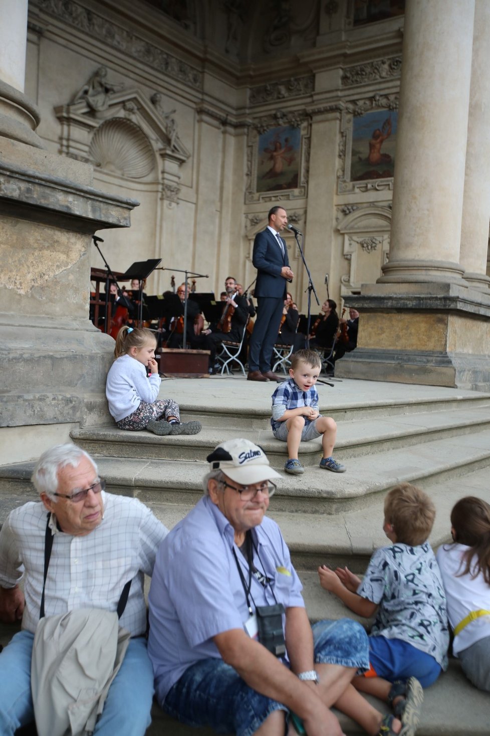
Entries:
{"label": "white-haired man in glasses and white checked shirt, excluding the beige jacket", "polygon": [[[104,492],[95,462],[76,445],[43,453],[32,483],[40,501],[14,509],[0,531],[0,620],[22,619],[0,654],[0,733],[13,736],[34,721],[31,662],[40,618],[100,609],[96,625],[103,612],[117,611],[131,638],[93,733],[143,735],[153,696],[143,578],[152,575],[168,530],[135,498]],[[102,657],[96,645],[89,655]]]}

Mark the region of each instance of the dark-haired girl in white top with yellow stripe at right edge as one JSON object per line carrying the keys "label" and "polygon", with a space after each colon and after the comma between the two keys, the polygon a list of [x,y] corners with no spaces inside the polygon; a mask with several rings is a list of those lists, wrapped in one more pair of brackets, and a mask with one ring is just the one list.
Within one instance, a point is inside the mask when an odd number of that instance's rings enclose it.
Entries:
{"label": "dark-haired girl in white top with yellow stripe at right edge", "polygon": [[466,496],[451,512],[453,543],[441,545],[437,562],[454,634],[452,653],[466,677],[490,692],[490,505]]}

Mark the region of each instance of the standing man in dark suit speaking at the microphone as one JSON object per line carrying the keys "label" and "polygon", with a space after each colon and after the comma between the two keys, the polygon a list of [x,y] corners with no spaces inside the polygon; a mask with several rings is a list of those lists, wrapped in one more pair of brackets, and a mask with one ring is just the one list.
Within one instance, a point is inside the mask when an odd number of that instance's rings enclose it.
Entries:
{"label": "standing man in dark suit speaking at the microphone", "polygon": [[258,270],[254,292],[258,309],[250,338],[248,381],[283,380],[271,371],[271,358],[287,295],[286,282],[294,277],[285,241],[279,234],[286,224],[285,209],[273,207],[269,210],[269,225],[255,236],[252,261]]}

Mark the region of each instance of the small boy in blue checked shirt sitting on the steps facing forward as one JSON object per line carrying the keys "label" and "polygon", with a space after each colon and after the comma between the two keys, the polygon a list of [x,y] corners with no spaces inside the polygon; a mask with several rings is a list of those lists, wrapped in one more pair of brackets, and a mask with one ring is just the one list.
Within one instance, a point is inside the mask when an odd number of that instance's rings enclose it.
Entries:
{"label": "small boy in blue checked shirt sitting on the steps facing forward", "polygon": [[305,469],[298,459],[299,442],[322,436],[323,457],[320,467],[344,473],[346,467],[332,457],[337,425],[332,417],[322,417],[315,383],[322,369],[318,353],[298,350],[291,357],[289,380],[280,383],[272,394],[272,432],[288,443],[286,473],[297,475]]}

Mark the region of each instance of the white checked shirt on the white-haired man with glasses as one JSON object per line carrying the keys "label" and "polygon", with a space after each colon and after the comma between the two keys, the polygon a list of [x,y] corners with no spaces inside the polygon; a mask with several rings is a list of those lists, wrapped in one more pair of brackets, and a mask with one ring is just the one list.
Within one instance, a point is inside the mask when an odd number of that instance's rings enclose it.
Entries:
{"label": "white checked shirt on the white-haired man with glasses", "polygon": [[[132,580],[121,626],[139,636],[146,631],[144,575],[152,575],[155,556],[168,529],[135,498],[102,491],[104,518],[90,534],[74,537],[49,521],[53,547],[46,578],[46,616],[72,609],[116,611],[121,592]],[[29,502],[10,513],[0,531],[0,586],[12,588],[24,573],[26,607],[22,628],[35,633],[43,590],[43,503]]]}

